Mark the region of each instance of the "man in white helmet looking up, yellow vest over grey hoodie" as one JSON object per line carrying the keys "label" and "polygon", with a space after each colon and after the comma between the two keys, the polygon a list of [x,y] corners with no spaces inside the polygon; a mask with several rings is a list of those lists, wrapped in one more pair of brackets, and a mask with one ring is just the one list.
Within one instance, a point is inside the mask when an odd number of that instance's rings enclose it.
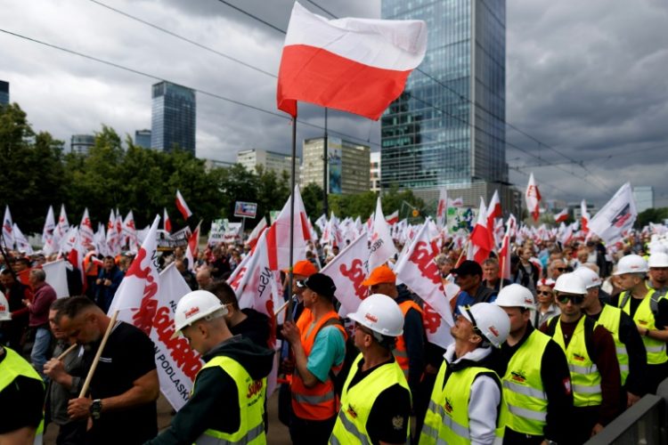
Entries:
{"label": "man in white helmet looking up, yellow vest over grey hoodie", "polygon": [[493,348],[506,341],[510,320],[492,303],[460,307],[436,376],[420,443],[497,443],[508,409],[501,379],[490,368]]}

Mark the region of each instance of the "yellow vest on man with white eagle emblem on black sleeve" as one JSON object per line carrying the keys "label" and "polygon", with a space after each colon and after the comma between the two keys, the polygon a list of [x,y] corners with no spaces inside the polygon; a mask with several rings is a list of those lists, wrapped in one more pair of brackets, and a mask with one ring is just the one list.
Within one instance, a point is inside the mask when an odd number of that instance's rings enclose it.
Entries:
{"label": "yellow vest on man with white eagle emblem on black sleeve", "polygon": [[[373,403],[378,399],[380,393],[395,384],[399,384],[410,392],[402,368],[399,368],[396,361],[375,368],[371,371],[371,374],[348,389],[362,359],[362,354],[359,354],[354,360],[346,377],[346,383],[343,385],[341,410],[338,411],[337,422],[334,424],[334,430],[330,437],[330,443],[332,444],[371,444],[371,437],[366,431],[366,423],[369,420]],[[408,418],[404,420],[409,422]],[[408,440],[411,429],[410,425],[406,426],[406,440]]]}

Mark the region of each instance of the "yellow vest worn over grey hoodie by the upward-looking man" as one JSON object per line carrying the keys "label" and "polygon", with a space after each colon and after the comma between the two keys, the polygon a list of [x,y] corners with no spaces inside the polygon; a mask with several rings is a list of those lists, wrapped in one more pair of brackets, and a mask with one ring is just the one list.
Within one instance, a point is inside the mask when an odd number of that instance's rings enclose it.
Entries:
{"label": "yellow vest worn over grey hoodie by the upward-looking man", "polygon": [[[450,445],[469,444],[470,430],[468,419],[468,401],[471,385],[477,376],[485,375],[501,381],[492,370],[480,367],[463,368],[452,372],[447,382],[445,374],[448,365],[444,361],[438,370],[431,400],[427,409],[425,423],[420,433],[420,443],[447,443]],[[508,408],[501,391],[501,410],[496,422],[494,443],[503,441],[503,433],[508,423]]]}

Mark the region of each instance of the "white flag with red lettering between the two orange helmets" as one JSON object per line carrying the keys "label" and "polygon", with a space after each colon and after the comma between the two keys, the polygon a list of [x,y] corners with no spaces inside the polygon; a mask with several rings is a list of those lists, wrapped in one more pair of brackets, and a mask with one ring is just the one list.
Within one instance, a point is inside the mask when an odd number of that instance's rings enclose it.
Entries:
{"label": "white flag with red lettering between the two orange helmets", "polygon": [[367,258],[369,247],[367,234],[363,232],[322,268],[321,272],[329,275],[337,287],[336,297],[341,303],[339,313],[344,317],[357,311],[357,306],[369,294],[368,287],[362,284],[369,273]]}

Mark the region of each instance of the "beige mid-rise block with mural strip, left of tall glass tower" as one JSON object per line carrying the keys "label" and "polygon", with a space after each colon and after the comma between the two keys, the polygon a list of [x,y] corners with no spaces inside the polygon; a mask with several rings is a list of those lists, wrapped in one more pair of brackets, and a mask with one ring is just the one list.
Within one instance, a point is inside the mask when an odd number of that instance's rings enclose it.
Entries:
{"label": "beige mid-rise block with mural strip, left of tall glass tower", "polygon": [[[328,193],[354,194],[369,191],[371,147],[339,138],[327,138]],[[301,185],[322,187],[324,138],[305,139],[302,150]]]}

